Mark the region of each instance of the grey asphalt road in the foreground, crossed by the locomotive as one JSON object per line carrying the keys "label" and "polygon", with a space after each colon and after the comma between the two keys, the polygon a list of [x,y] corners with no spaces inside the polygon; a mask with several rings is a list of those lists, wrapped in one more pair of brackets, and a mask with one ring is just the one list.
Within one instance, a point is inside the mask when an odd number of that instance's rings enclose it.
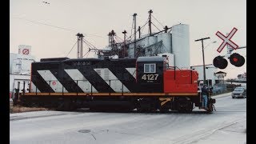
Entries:
{"label": "grey asphalt road in the foreground, crossed by the locomotive", "polygon": [[213,114],[38,111],[10,114],[10,143],[246,143],[246,98],[216,97]]}

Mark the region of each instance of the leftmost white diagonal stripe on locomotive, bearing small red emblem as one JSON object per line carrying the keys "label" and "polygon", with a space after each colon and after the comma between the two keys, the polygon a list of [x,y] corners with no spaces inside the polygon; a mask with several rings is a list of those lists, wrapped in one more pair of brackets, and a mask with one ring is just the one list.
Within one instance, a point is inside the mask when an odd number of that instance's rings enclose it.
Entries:
{"label": "leftmost white diagonal stripe on locomotive, bearing small red emblem", "polygon": [[[50,70],[38,70],[38,74],[42,76],[42,78],[50,85],[50,87],[54,90],[54,92],[61,93],[62,92],[62,84],[55,78],[54,74],[50,72]],[[63,92],[68,92],[65,87],[63,87]]]}

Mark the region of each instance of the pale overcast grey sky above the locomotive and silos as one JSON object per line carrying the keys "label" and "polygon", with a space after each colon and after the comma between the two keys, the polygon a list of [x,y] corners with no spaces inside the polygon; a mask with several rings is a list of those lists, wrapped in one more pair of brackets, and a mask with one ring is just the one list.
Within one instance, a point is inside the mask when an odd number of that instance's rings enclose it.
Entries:
{"label": "pale overcast grey sky above the locomotive and silos", "polygon": [[[143,26],[150,9],[164,26],[190,26],[191,66],[202,65],[202,44],[195,39],[210,37],[204,41],[206,64],[219,55],[222,40],[215,35],[217,31],[226,34],[236,27],[238,31],[231,40],[246,46],[246,0],[10,0],[10,52],[18,53],[18,45],[29,45],[37,60],[66,57],[78,33],[102,49],[108,45],[110,30],[119,38],[123,38],[123,30],[130,35],[132,15],[137,13],[137,26]],[[154,19],[152,22],[162,29]],[[147,30],[145,27],[142,34]],[[68,57],[76,58],[76,50],[74,47]],[[84,51],[88,51],[86,46]],[[246,49],[235,52],[246,58]],[[220,54],[226,54],[226,49]],[[236,78],[246,72],[246,64],[235,67],[229,62],[222,71],[227,73],[226,78]]]}

